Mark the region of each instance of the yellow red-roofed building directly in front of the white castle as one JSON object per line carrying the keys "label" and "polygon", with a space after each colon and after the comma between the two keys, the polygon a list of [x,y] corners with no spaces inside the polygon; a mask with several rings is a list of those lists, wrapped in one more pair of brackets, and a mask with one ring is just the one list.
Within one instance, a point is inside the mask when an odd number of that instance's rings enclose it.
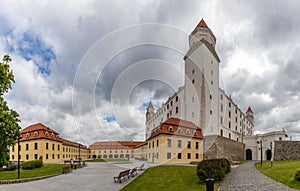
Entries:
{"label": "yellow red-roofed building directly in front of the white castle", "polygon": [[147,140],[147,161],[189,163],[203,160],[203,135],[192,122],[169,118],[152,130]]}

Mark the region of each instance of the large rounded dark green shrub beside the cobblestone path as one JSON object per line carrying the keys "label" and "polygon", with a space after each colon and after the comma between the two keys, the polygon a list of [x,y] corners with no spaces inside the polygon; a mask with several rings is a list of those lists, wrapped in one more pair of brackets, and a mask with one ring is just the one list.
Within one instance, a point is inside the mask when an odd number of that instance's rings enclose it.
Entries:
{"label": "large rounded dark green shrub beside the cobblestone path", "polygon": [[230,172],[230,163],[227,159],[204,160],[197,165],[197,175],[202,183],[208,178],[221,181],[228,172]]}

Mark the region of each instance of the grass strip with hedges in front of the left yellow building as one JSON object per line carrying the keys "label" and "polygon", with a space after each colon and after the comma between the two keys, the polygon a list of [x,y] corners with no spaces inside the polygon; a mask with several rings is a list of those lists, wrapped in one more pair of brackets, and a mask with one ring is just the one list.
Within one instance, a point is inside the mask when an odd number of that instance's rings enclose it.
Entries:
{"label": "grass strip with hedges in front of the left yellow building", "polygon": [[[62,173],[63,164],[44,164],[41,168],[33,170],[20,169],[20,178],[40,177]],[[18,170],[0,171],[0,180],[14,180],[18,178]]]}

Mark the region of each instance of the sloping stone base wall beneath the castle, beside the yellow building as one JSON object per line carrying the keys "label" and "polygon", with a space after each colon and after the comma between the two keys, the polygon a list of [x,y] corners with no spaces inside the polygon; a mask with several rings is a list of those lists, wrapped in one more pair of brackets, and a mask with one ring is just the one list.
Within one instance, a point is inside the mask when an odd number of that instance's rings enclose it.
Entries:
{"label": "sloping stone base wall beneath the castle, beside the yellow building", "polygon": [[226,158],[229,161],[244,160],[245,144],[218,135],[205,136],[204,159]]}

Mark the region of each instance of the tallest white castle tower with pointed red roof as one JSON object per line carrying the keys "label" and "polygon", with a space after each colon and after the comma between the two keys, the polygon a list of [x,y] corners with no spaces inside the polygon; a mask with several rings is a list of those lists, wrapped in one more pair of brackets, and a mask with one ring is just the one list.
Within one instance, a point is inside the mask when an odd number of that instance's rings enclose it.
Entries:
{"label": "tallest white castle tower with pointed red roof", "polygon": [[219,63],[216,37],[202,19],[189,35],[185,60],[185,120],[205,136],[219,132]]}

